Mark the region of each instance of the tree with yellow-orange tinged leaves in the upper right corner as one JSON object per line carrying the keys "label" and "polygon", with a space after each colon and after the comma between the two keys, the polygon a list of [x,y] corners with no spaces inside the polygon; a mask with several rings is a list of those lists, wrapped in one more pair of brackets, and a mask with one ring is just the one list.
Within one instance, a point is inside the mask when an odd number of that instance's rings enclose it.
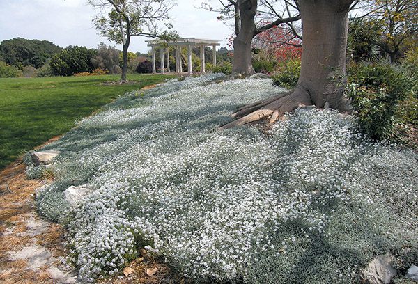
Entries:
{"label": "tree with yellow-orange tinged leaves in the upper right corner", "polygon": [[416,0],[371,0],[362,1],[361,8],[367,13],[362,18],[380,26],[379,45],[396,61],[402,45],[418,32],[418,1]]}

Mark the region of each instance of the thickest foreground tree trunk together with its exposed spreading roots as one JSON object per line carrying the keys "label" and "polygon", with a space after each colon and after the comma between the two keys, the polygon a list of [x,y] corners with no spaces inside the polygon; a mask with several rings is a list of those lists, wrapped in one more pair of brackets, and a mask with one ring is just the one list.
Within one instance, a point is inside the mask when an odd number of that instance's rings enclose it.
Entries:
{"label": "thickest foreground tree trunk together with its exposed spreading roots", "polygon": [[332,77],[346,74],[348,9],[351,3],[353,0],[300,0],[302,67],[295,90],[238,109],[233,114],[238,119],[221,129],[267,117],[273,123],[284,113],[311,104],[324,107],[328,102],[333,109],[348,109],[343,87]]}

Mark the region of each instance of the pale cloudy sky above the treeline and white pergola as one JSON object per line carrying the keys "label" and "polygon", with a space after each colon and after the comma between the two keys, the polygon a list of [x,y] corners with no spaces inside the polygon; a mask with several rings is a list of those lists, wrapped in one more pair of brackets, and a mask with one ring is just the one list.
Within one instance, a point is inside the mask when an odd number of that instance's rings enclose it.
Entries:
{"label": "pale cloudy sky above the treeline and white pergola", "polygon": [[[173,29],[183,38],[222,40],[231,36],[231,27],[217,20],[217,13],[197,9],[202,0],[177,0],[171,9]],[[98,35],[92,19],[97,14],[86,0],[0,0],[0,42],[11,38],[48,40],[68,45],[97,48],[100,42],[122,49]],[[132,37],[129,51],[146,53],[149,38]]]}

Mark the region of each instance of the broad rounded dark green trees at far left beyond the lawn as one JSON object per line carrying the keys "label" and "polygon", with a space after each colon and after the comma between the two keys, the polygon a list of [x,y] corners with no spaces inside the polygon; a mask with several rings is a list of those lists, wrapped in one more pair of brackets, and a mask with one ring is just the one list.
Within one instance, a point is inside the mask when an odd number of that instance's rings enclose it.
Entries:
{"label": "broad rounded dark green trees at far left beyond the lawn", "polygon": [[13,38],[3,40],[0,44],[0,57],[9,65],[33,66],[40,68],[52,54],[59,52],[61,47],[47,40],[26,40]]}

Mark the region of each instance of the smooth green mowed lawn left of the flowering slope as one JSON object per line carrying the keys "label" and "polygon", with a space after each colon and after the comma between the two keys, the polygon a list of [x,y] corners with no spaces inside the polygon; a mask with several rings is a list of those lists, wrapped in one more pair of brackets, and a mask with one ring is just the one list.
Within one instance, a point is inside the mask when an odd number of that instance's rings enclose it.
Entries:
{"label": "smooth green mowed lawn left of the flowering slope", "polygon": [[128,74],[136,84],[100,85],[120,75],[0,78],[0,169],[67,132],[118,95],[175,76]]}

